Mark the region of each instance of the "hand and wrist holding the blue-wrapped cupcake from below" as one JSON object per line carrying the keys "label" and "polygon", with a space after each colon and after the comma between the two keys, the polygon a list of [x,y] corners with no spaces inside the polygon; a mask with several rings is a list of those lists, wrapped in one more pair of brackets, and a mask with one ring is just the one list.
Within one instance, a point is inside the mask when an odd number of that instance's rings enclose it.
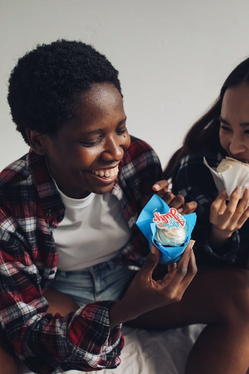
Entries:
{"label": "hand and wrist holding the blue-wrapped cupcake from below", "polygon": [[193,245],[194,240],[190,240],[177,264],[169,265],[163,279],[155,281],[152,279],[152,273],[159,262],[160,251],[152,244],[151,252],[123,299],[110,310],[111,327],[150,310],[180,301],[197,272]]}

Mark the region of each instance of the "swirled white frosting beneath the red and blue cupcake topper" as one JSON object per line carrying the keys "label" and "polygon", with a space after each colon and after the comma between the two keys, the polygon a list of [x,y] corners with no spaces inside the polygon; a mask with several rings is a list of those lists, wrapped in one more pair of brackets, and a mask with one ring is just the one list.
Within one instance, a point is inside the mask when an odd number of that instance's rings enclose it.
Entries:
{"label": "swirled white frosting beneath the red and blue cupcake topper", "polygon": [[154,238],[162,245],[177,247],[185,242],[186,231],[184,227],[161,228],[157,226]]}

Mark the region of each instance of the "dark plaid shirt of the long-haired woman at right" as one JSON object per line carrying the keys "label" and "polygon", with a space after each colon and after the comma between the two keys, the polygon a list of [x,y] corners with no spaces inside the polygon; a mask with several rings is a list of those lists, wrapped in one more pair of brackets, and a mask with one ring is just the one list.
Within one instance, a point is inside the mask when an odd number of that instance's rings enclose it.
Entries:
{"label": "dark plaid shirt of the long-haired woman at right", "polygon": [[172,177],[173,193],[182,194],[187,202],[195,200],[198,204],[196,209],[197,222],[192,233],[192,238],[196,240],[195,256],[197,263],[234,264],[243,267],[248,253],[248,221],[240,230],[235,231],[219,250],[214,249],[209,242],[211,229],[209,221],[210,205],[217,197],[218,190],[212,174],[203,163],[204,156],[209,166],[217,168],[221,160],[228,155],[221,146],[218,146],[216,151],[207,150],[189,154],[180,160]]}

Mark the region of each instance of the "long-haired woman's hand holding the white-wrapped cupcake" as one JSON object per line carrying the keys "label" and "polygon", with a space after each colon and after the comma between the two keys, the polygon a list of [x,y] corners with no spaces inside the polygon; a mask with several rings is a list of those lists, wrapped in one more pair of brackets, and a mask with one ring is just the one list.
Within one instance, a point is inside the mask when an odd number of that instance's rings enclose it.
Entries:
{"label": "long-haired woman's hand holding the white-wrapped cupcake", "polygon": [[[240,200],[242,187],[237,187],[226,204],[227,192],[220,192],[210,207],[210,222],[212,223],[211,242],[221,245],[236,230],[239,230],[249,217],[249,188]],[[239,201],[240,200],[240,201]]]}

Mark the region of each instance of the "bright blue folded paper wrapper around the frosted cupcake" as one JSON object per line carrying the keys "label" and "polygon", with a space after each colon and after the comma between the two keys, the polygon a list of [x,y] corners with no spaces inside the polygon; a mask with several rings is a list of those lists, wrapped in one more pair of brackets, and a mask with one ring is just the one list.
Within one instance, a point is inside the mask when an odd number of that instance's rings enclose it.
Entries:
{"label": "bright blue folded paper wrapper around the frosted cupcake", "polygon": [[[149,248],[151,248],[151,244],[153,243],[161,251],[159,261],[161,264],[170,264],[173,262],[177,262],[181,254],[184,252],[186,246],[188,245],[189,240],[191,239],[191,233],[196,222],[196,213],[184,215],[184,218],[186,220],[186,239],[183,245],[179,247],[166,247],[158,243],[154,239],[156,233],[156,222],[153,222],[155,212],[159,212],[160,214],[170,212],[170,207],[166,204],[166,202],[163,201],[163,199],[161,199],[156,194],[151,197],[151,199],[142,209],[139,217],[137,218],[136,225],[148,240]],[[180,214],[178,215],[181,216]]]}

